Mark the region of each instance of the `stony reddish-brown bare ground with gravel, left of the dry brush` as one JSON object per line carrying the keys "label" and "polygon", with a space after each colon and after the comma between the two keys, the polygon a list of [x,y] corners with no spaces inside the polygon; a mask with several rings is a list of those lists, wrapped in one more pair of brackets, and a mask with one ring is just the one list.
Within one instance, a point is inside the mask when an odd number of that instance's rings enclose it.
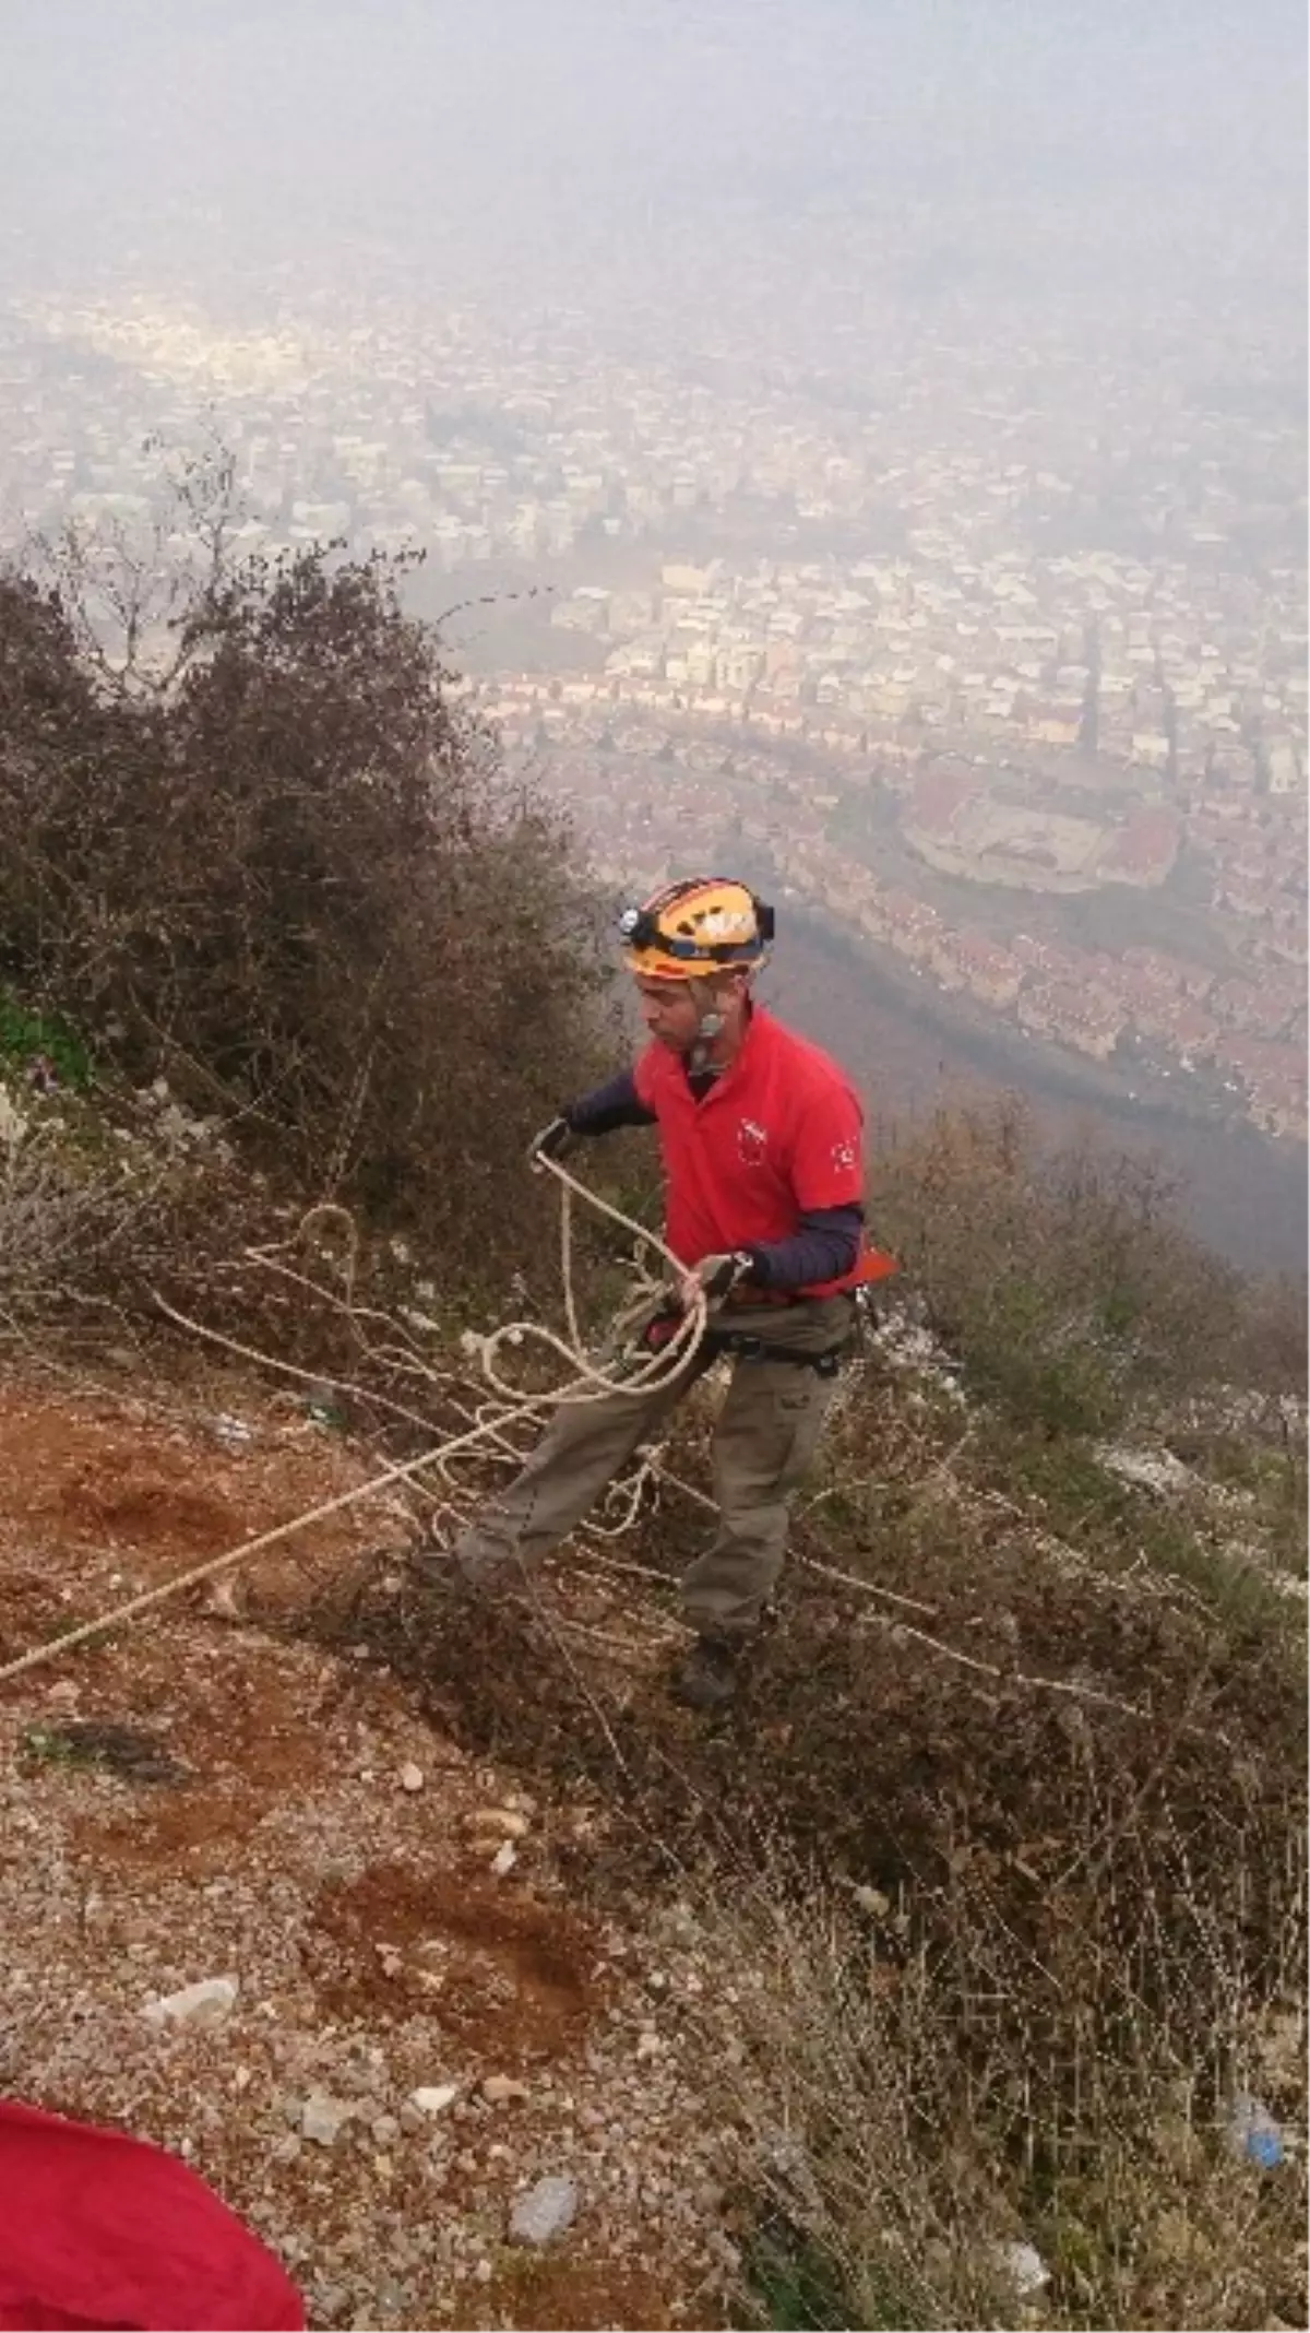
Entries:
{"label": "stony reddish-brown bare ground with gravel, left of the dry brush", "polygon": [[[12,1376],[0,1656],[361,1474],[240,1381]],[[347,1509],[256,1589],[2,1687],[0,2081],[182,2153],[312,2326],[702,2333],[734,2256],[690,1925],[580,1908],[585,1806],[462,1752],[361,1647],[280,1628],[399,1523],[396,1495]]]}

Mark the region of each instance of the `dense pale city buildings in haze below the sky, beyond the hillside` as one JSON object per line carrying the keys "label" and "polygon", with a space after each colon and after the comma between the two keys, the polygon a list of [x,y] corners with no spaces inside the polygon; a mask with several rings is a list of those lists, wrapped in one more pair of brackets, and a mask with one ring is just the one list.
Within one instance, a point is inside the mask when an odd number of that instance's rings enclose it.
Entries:
{"label": "dense pale city buildings in haze below the sky, beyond the hillside", "polygon": [[1310,1141],[1287,359],[1235,380],[1184,301],[1140,345],[867,303],[804,366],[744,294],[685,357],[385,273],[245,313],[14,282],[5,548],[140,534],[221,441],[238,555],[420,551],[427,611],[490,602],[469,686],[615,884],[746,849],[998,1022]]}

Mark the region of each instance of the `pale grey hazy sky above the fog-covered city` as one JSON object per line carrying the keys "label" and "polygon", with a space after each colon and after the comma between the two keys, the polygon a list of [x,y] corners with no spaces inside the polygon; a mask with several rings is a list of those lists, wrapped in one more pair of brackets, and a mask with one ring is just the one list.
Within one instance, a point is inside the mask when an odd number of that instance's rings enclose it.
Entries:
{"label": "pale grey hazy sky above the fog-covered city", "polygon": [[[0,0],[0,205],[422,250],[911,187],[1252,212],[1310,187],[1305,0]],[[205,229],[207,219],[207,229]],[[235,247],[233,243],[233,247]],[[1126,254],[1131,261],[1131,254]]]}

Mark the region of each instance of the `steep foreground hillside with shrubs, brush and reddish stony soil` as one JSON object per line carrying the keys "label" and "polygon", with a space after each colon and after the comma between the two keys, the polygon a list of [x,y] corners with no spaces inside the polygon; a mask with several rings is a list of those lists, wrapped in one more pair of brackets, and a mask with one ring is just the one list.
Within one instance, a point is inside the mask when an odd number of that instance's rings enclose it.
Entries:
{"label": "steep foreground hillside with shrubs, brush and reddish stony soil", "polygon": [[585,870],[387,572],[205,574],[168,672],[0,581],[5,2086],[315,2328],[1310,2324],[1305,1285],[935,1120],[727,1715],[667,1694],[713,1374],[455,1593],[657,1211],[587,1157],[569,1316]]}

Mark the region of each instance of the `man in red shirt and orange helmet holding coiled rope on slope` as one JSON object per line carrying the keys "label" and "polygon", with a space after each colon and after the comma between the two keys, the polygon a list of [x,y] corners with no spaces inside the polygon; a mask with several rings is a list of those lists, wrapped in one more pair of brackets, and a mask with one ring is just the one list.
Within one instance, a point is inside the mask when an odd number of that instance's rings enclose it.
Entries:
{"label": "man in red shirt and orange helmet holding coiled rope on slope", "polygon": [[531,1157],[655,1125],[681,1302],[699,1283],[718,1309],[671,1383],[562,1402],[455,1558],[485,1579],[510,1558],[548,1554],[702,1369],[734,1355],[713,1437],[718,1533],[683,1577],[697,1642],[676,1684],[688,1705],[716,1708],[737,1689],[741,1645],[783,1565],[790,1495],[818,1444],[853,1292],[879,1271],[862,1232],[862,1111],[825,1052],[753,1003],[774,912],[746,884],[669,884],[620,931],[650,1043],[634,1069],[555,1118]]}

